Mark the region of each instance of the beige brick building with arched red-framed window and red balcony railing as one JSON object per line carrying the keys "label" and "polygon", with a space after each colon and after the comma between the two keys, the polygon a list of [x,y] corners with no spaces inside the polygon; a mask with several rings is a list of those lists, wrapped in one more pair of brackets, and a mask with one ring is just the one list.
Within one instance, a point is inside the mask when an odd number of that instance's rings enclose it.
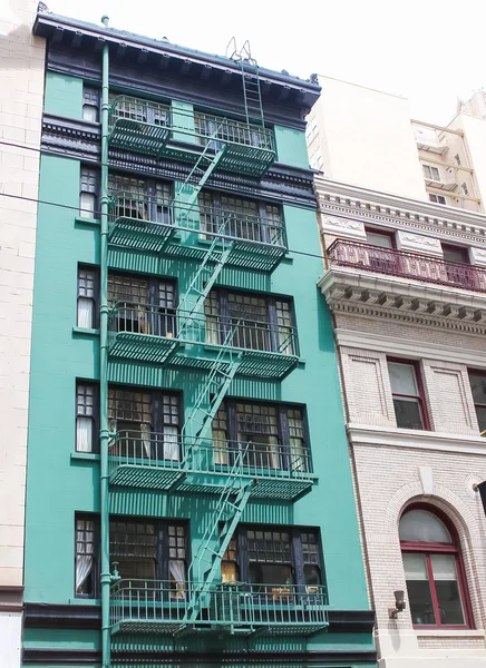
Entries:
{"label": "beige brick building with arched red-framed window and red balcony railing", "polygon": [[483,668],[486,217],[317,190],[379,667]]}

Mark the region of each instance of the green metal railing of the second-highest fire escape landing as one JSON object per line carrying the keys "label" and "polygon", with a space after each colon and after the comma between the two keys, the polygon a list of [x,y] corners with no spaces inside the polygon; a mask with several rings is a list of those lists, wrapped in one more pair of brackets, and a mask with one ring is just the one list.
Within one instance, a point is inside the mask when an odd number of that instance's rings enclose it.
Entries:
{"label": "green metal railing of the second-highest fire escape landing", "polygon": [[122,223],[143,233],[165,225],[211,240],[221,237],[286,248],[284,226],[280,222],[203,205],[188,206],[156,195],[111,193],[109,214],[110,228]]}

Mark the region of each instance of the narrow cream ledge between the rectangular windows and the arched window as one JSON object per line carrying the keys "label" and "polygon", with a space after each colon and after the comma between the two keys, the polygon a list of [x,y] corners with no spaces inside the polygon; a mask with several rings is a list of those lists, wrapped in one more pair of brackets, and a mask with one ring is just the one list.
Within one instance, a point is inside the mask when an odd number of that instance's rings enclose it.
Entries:
{"label": "narrow cream ledge between the rectangular windows and the arched window", "polygon": [[347,426],[351,445],[407,448],[411,450],[435,450],[485,456],[486,440],[482,436],[465,436],[414,429],[387,429],[366,424],[349,423]]}

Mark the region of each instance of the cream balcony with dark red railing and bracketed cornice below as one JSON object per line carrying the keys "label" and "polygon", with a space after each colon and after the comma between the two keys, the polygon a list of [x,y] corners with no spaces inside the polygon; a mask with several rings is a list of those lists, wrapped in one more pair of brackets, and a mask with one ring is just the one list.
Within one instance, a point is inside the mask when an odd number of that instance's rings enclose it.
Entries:
{"label": "cream balcony with dark red railing and bracketed cornice below", "polygon": [[486,268],[337,239],[319,286],[332,311],[484,333]]}

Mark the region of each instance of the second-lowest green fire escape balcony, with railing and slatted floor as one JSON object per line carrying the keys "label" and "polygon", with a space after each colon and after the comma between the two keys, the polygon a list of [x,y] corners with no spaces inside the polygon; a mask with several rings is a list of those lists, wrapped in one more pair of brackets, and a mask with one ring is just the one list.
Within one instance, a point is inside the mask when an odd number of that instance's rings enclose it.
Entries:
{"label": "second-lowest green fire escape balcony, with railing and slatted floor", "polygon": [[294,501],[317,480],[308,449],[179,434],[120,431],[108,461],[111,485],[159,491],[221,494],[230,478],[253,479],[252,498]]}

